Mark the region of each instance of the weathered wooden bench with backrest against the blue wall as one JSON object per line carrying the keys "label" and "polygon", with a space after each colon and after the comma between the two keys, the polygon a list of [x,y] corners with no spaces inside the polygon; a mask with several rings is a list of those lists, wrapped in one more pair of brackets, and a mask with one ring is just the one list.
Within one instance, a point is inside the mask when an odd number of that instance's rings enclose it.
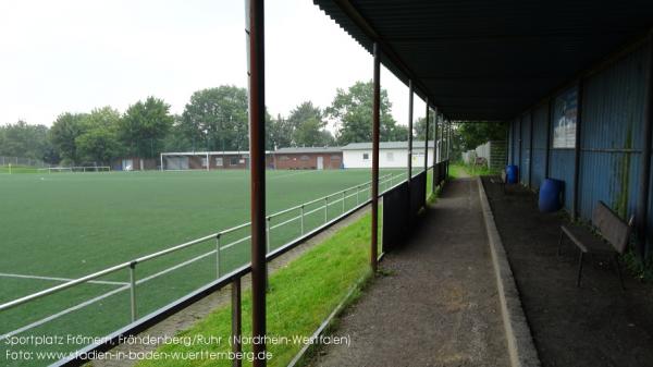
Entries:
{"label": "weathered wooden bench with backrest against the blue wall", "polygon": [[578,247],[580,253],[578,258],[578,278],[576,279],[576,286],[580,286],[583,255],[595,254],[608,257],[611,264],[615,265],[619,277],[619,284],[621,285],[621,289],[624,289],[619,255],[624,254],[628,246],[632,220],[633,217],[630,217],[628,223],[624,222],[603,201],[599,201],[592,212],[592,225],[597,234],[579,225],[560,225],[558,256],[562,254],[563,240],[565,236]]}

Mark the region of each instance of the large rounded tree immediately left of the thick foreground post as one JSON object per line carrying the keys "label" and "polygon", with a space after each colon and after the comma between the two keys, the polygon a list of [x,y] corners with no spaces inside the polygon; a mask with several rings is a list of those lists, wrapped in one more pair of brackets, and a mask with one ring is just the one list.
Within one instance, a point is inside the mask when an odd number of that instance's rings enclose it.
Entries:
{"label": "large rounded tree immediately left of the thick foreground post", "polygon": [[233,85],[197,90],[180,129],[193,150],[243,150],[248,144],[247,90]]}

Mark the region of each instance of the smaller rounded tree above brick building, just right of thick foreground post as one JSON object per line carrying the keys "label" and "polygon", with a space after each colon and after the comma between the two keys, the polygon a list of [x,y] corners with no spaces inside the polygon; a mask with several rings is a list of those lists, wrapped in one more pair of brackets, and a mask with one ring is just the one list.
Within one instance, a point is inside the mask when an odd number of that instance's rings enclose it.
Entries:
{"label": "smaller rounded tree above brick building, just right of thick foreground post", "polygon": [[305,101],[291,111],[287,123],[292,130],[293,146],[317,147],[334,143],[322,111],[311,101]]}

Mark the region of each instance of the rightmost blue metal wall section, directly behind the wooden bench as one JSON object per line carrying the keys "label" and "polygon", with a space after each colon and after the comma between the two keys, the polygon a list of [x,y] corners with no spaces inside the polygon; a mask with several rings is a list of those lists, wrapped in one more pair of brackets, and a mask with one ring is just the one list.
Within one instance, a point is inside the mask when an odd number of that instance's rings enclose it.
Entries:
{"label": "rightmost blue metal wall section, directly behind the wooden bench", "polygon": [[630,53],[586,81],[579,210],[590,219],[597,200],[623,218],[636,210],[644,106],[644,52]]}

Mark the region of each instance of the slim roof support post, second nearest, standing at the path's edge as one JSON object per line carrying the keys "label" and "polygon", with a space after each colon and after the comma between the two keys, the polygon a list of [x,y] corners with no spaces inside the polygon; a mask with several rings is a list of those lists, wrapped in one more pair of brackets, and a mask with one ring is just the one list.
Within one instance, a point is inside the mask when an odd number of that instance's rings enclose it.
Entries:
{"label": "slim roof support post, second nearest, standing at the path's edge", "polygon": [[374,42],[374,76],[372,102],[372,233],[370,246],[370,266],[373,272],[378,268],[379,254],[379,109],[381,108],[381,62],[379,45]]}

